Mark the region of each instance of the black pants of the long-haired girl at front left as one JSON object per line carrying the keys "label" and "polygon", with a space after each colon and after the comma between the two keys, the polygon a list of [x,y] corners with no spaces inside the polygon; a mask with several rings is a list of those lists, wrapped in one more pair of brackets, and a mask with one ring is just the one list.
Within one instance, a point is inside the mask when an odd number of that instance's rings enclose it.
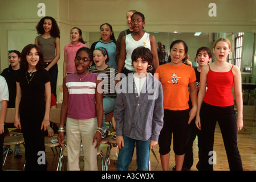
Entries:
{"label": "black pants of the long-haired girl at front left", "polygon": [[41,130],[44,118],[45,102],[28,104],[21,102],[19,115],[25,140],[26,171],[46,170],[44,130]]}

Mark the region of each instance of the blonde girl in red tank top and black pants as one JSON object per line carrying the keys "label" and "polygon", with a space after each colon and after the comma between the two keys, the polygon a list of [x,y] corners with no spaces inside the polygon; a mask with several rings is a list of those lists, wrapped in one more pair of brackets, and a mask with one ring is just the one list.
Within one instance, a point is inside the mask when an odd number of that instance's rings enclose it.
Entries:
{"label": "blonde girl in red tank top and black pants", "polygon": [[[208,162],[208,154],[213,151],[217,121],[221,127],[230,170],[243,169],[236,133],[243,127],[241,72],[237,66],[227,63],[226,57],[230,50],[229,40],[225,38],[216,40],[213,45],[216,61],[205,65],[201,71],[195,123],[198,129],[202,130],[202,138],[204,138],[205,163],[203,168],[205,170],[213,169],[212,164]],[[234,112],[233,85],[238,110],[237,118]]]}

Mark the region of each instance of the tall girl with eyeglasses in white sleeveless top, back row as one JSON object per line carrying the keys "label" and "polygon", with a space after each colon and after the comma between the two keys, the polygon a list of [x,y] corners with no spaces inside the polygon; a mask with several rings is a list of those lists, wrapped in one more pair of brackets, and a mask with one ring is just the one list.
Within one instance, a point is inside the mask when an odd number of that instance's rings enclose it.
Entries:
{"label": "tall girl with eyeglasses in white sleeveless top, back row", "polygon": [[[121,40],[120,57],[118,61],[118,73],[132,73],[135,69],[132,66],[132,51],[140,46],[151,49],[153,53],[153,68],[159,67],[157,56],[156,38],[144,31],[145,17],[140,12],[135,12],[131,17],[132,34],[124,36]],[[153,71],[154,72],[154,71]],[[152,72],[152,73],[153,73]]]}

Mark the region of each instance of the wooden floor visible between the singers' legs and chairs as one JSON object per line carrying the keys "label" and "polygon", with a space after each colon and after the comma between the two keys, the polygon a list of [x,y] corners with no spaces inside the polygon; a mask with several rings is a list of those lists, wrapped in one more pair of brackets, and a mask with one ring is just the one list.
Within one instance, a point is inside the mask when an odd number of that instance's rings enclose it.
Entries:
{"label": "wooden floor visible between the singers' legs and chairs", "polygon": [[[253,114],[244,115],[244,128],[238,132],[238,148],[242,158],[243,169],[245,171],[256,171],[256,119],[253,121]],[[14,149],[14,146],[11,146]],[[171,146],[172,147],[172,146]],[[23,155],[20,158],[14,158],[14,152],[9,154],[7,157],[7,161],[3,170],[22,170],[23,164],[25,162],[25,149],[21,145]],[[59,149],[58,149],[59,150]],[[105,159],[105,152],[107,150],[107,144],[101,144],[101,151],[103,151],[104,159]],[[152,171],[162,171],[160,156],[159,156],[159,146],[157,145],[154,148],[156,152],[157,158],[159,159],[159,163],[153,156],[151,152],[150,160],[151,160],[151,170]],[[214,151],[217,153],[217,164],[214,165],[214,170],[216,171],[228,171],[229,166],[227,163],[226,152],[224,148],[224,143],[222,140],[222,135],[220,133],[220,128],[218,125],[216,126],[216,134],[215,134],[215,141],[214,141]],[[197,156],[197,139],[194,141],[193,145],[193,152],[194,152],[194,164],[191,168],[191,171],[197,171],[196,164],[198,162]],[[56,151],[55,151],[56,154]],[[47,169],[48,171],[56,170],[57,163],[58,163],[58,155],[54,155],[50,148],[46,149],[46,156],[47,156]],[[98,158],[98,166],[100,169],[100,158]],[[174,153],[173,150],[170,152],[170,160],[169,160],[169,170],[172,170],[174,166]],[[83,160],[81,158],[80,168],[83,169]],[[63,170],[63,169],[62,169]],[[129,171],[136,170],[136,162],[132,162]],[[109,171],[116,171],[116,164],[111,161],[109,166]]]}

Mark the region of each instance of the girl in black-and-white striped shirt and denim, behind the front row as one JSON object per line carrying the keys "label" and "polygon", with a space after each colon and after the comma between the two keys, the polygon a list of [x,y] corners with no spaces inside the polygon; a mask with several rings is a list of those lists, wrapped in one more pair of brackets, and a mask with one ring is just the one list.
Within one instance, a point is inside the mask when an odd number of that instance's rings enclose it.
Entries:
{"label": "girl in black-and-white striped shirt and denim, behind the front row", "polygon": [[105,123],[105,114],[111,113],[114,110],[116,91],[115,91],[115,77],[117,70],[108,65],[109,57],[108,52],[103,47],[94,49],[94,63],[89,71],[99,74],[103,79],[103,123],[102,123],[102,139],[107,137],[108,131]]}

